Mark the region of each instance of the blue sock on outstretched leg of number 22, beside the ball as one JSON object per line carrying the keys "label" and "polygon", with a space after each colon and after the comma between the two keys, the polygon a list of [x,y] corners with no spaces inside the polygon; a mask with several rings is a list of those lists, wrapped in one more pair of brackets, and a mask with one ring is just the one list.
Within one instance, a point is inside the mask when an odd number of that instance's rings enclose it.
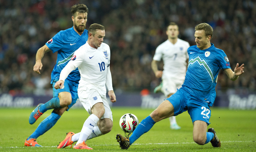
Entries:
{"label": "blue sock on outstretched leg of number 22, beside the ball", "polygon": [[134,143],[134,141],[136,141],[141,135],[148,132],[155,123],[156,122],[150,116],[143,119],[132,133],[132,136],[129,138],[130,145],[132,145],[132,143]]}

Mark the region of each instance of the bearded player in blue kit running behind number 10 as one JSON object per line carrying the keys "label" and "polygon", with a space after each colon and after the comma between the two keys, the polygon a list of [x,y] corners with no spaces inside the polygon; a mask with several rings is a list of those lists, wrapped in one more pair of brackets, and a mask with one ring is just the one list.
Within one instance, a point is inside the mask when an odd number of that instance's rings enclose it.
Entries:
{"label": "bearded player in blue kit running behind number 10", "polygon": [[52,113],[43,120],[36,128],[35,132],[30,135],[26,141],[25,146],[41,147],[36,141],[37,137],[43,135],[52,126],[56,124],[61,115],[78,100],[78,83],[80,80],[80,73],[78,68],[72,71],[67,77],[64,87],[56,90],[55,83],[59,80],[61,70],[68,64],[74,52],[84,45],[88,39],[88,31],[85,29],[87,22],[88,8],[84,4],[77,4],[71,7],[73,27],[64,31],[59,31],[52,39],[38,49],[36,54],[36,61],[33,70],[39,73],[42,69],[41,59],[48,51],[57,52],[58,58],[51,75],[51,84],[53,86],[53,98],[45,104],[38,104],[29,117],[29,123],[33,124],[35,121],[47,110],[54,109]]}

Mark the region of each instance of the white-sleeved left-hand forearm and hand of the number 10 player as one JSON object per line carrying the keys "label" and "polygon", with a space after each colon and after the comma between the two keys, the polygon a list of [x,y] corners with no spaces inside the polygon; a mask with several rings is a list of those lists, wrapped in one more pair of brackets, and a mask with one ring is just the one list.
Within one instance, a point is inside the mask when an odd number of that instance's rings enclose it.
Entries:
{"label": "white-sleeved left-hand forearm and hand of the number 10 player", "polygon": [[61,73],[59,75],[59,81],[57,81],[54,85],[55,89],[61,89],[64,85],[65,79],[69,76],[69,73],[73,70],[75,70],[76,67],[71,64],[70,62],[61,70]]}

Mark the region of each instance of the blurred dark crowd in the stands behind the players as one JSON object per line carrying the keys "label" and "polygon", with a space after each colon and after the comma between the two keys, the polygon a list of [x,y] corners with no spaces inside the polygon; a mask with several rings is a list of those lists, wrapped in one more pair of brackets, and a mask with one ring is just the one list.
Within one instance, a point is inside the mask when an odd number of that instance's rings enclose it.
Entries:
{"label": "blurred dark crowd in the stands behind the players", "polygon": [[[217,90],[256,90],[256,2],[252,0],[0,0],[0,93],[52,95],[50,75],[57,53],[45,53],[41,74],[33,71],[35,54],[60,30],[73,26],[70,7],[89,8],[86,29],[105,26],[104,42],[111,50],[115,90],[153,90],[160,83],[151,70],[156,47],[167,40],[169,22],[179,26],[179,38],[195,45],[195,26],[213,27],[211,42],[223,49],[234,71],[231,81],[221,70]],[[162,69],[161,62],[159,68]]]}

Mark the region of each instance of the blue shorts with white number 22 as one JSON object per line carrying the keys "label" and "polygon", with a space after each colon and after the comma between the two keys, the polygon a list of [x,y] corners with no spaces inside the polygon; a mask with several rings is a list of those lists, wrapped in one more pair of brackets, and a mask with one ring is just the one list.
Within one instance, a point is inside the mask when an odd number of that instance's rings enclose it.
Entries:
{"label": "blue shorts with white number 22", "polygon": [[191,117],[192,123],[196,120],[206,122],[208,125],[211,110],[209,103],[199,101],[198,99],[191,99],[189,95],[178,90],[176,93],[167,98],[174,107],[174,116],[187,111]]}

